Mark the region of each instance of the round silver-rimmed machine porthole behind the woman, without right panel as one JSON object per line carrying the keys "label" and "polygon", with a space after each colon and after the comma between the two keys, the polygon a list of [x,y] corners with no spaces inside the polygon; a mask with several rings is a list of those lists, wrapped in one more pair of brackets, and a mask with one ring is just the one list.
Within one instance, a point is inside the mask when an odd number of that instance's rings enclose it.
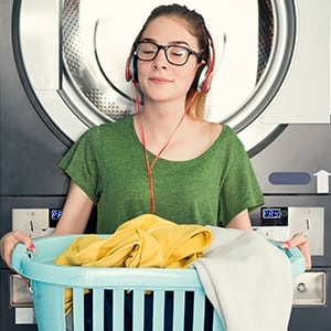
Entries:
{"label": "round silver-rimmed machine porthole behind the woman, without right panel", "polygon": [[[211,6],[194,0],[184,3],[204,15],[215,44],[206,118],[227,122],[242,136],[246,149],[257,152],[265,139],[279,131],[279,125],[261,125],[258,119],[287,75],[295,47],[295,4],[223,0],[215,12],[212,1]],[[125,63],[141,24],[158,4],[20,1],[22,75],[36,108],[71,141],[90,126],[135,113]],[[36,24],[39,29],[31,31]]]}

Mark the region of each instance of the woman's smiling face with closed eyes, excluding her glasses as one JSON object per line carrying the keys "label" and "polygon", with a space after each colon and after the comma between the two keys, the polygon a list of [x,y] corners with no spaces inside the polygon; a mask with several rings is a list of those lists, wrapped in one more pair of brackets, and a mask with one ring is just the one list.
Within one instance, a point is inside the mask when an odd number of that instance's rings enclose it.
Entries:
{"label": "woman's smiling face with closed eyes, excluding her glasses", "polygon": [[[151,41],[158,45],[181,45],[199,53],[196,38],[189,32],[185,22],[177,18],[154,19],[148,24],[141,41]],[[145,102],[178,99],[184,103],[200,64],[196,56],[191,54],[184,65],[173,65],[168,62],[162,49],[152,61],[138,60],[139,87]]]}

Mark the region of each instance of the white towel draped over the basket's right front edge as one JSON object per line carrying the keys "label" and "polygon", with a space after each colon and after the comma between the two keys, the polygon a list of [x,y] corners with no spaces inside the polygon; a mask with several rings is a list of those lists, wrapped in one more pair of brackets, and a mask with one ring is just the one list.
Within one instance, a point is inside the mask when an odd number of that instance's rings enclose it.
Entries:
{"label": "white towel draped over the basket's right front edge", "polygon": [[225,330],[287,330],[292,279],[286,254],[252,231],[211,228],[214,241],[193,266]]}

